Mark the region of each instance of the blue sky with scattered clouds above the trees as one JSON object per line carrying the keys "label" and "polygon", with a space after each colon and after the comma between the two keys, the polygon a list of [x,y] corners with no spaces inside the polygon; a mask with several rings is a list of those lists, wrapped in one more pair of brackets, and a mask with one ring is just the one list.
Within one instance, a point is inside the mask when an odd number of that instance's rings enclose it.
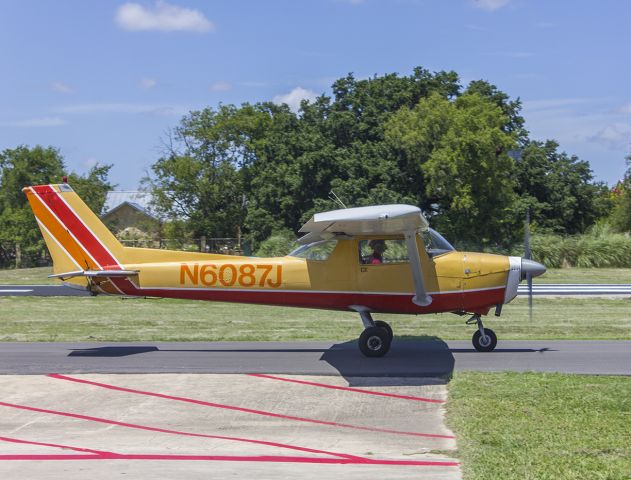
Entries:
{"label": "blue sky with scattered clouds above the trees", "polygon": [[631,152],[631,2],[0,0],[0,150],[58,148],[137,189],[187,112],[297,108],[352,72],[416,66],[523,102],[530,137],[622,178]]}

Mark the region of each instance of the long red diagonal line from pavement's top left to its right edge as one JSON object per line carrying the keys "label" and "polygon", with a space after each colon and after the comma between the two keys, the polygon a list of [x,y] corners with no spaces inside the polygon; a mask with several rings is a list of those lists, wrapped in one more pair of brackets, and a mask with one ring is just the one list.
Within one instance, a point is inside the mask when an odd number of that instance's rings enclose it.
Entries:
{"label": "long red diagonal line from pavement's top left to its right edge", "polygon": [[[359,425],[349,425],[346,423],[338,423],[338,422],[329,422],[326,420],[316,420],[316,419],[312,419],[312,418],[304,418],[304,417],[295,417],[292,415],[283,415],[280,413],[273,413],[273,412],[267,412],[264,410],[254,410],[251,408],[243,408],[243,407],[236,407],[233,405],[223,405],[220,403],[212,403],[212,402],[204,402],[202,400],[195,400],[192,398],[186,398],[186,397],[176,397],[173,395],[165,395],[163,393],[155,393],[155,392],[147,392],[144,390],[135,390],[133,388],[125,388],[125,387],[117,387],[115,385],[109,385],[107,383],[99,383],[99,382],[92,382],[90,380],[83,380],[80,378],[74,378],[74,377],[68,377],[66,375],[59,375],[57,373],[50,373],[48,374],[49,377],[51,378],[56,378],[59,380],[68,380],[71,382],[77,382],[77,383],[85,383],[87,385],[93,385],[93,386],[97,386],[97,387],[102,387],[102,388],[107,388],[110,390],[117,390],[120,392],[127,392],[127,393],[135,393],[135,394],[139,394],[139,395],[148,395],[151,397],[158,397],[158,398],[165,398],[168,400],[176,400],[179,402],[186,402],[186,403],[193,403],[196,405],[203,405],[206,407],[213,407],[213,408],[223,408],[226,410],[234,410],[237,412],[243,412],[243,413],[252,413],[255,415],[263,415],[266,417],[273,417],[273,418],[280,418],[283,420],[293,420],[293,421],[298,421],[298,422],[308,422],[308,423],[315,423],[318,425],[328,425],[331,427],[339,427],[339,428],[351,428],[351,429],[355,429],[355,430],[367,430],[367,431],[371,431],[371,432],[380,432],[380,433],[392,433],[395,435],[411,435],[411,436],[415,436],[415,437],[430,437],[430,438],[455,438],[452,435],[438,435],[435,433],[417,433],[417,432],[404,432],[404,431],[400,431],[400,430],[391,430],[391,429],[387,429],[387,428],[377,428],[377,427],[363,427],[363,426],[359,426]],[[1,405],[2,403],[0,403]]]}

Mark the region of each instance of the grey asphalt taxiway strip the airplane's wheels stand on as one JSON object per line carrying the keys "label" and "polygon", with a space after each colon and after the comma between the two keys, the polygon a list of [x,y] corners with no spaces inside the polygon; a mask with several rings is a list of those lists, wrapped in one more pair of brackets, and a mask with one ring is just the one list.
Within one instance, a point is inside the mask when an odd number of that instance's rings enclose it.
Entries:
{"label": "grey asphalt taxiway strip the airplane's wheels stand on", "polygon": [[355,341],[0,343],[0,374],[270,373],[346,379],[447,381],[454,370],[631,375],[631,341],[501,341],[480,353],[469,341],[397,340],[366,358]]}

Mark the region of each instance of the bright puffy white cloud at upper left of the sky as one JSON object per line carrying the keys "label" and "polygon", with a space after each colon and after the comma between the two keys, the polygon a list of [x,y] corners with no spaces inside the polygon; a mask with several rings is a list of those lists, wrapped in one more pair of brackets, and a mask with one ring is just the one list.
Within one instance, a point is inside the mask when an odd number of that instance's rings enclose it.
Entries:
{"label": "bright puffy white cloud at upper left of the sky", "polygon": [[139,3],[125,3],[116,12],[119,27],[133,32],[212,32],[215,25],[202,12],[192,8],[171,5],[158,0],[153,8]]}

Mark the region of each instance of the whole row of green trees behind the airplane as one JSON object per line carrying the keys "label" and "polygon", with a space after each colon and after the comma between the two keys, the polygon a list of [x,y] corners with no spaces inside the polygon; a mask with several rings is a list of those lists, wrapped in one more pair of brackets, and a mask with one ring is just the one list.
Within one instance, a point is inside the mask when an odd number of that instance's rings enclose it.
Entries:
{"label": "whole row of green trees behind the airplane", "polygon": [[[594,181],[587,161],[529,137],[519,99],[484,80],[463,87],[453,71],[349,74],[297,112],[271,102],[208,107],[164,143],[142,184],[170,219],[166,236],[243,235],[256,249],[340,208],[332,192],[349,207],[417,205],[461,247],[509,248],[526,212],[536,232],[579,234],[604,219],[631,230],[631,169],[614,189]],[[96,211],[110,167],[70,179]],[[0,169],[6,259],[16,244],[22,255],[41,246],[21,187],[58,181],[65,167],[53,148],[20,146],[0,154]]]}

